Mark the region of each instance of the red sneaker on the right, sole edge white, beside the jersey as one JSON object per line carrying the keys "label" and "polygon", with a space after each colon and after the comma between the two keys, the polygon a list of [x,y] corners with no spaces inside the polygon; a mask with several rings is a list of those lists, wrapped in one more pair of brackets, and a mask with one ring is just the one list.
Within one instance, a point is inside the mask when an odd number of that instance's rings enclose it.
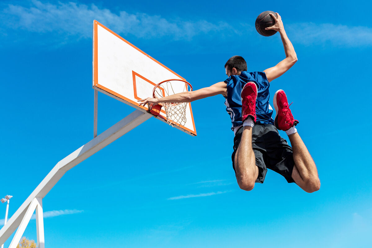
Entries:
{"label": "red sneaker on the right, sole edge white, beside the jersey", "polygon": [[274,107],[276,111],[274,123],[276,128],[279,130],[287,131],[298,123],[298,120],[293,118],[289,105],[284,91],[276,91],[274,95]]}

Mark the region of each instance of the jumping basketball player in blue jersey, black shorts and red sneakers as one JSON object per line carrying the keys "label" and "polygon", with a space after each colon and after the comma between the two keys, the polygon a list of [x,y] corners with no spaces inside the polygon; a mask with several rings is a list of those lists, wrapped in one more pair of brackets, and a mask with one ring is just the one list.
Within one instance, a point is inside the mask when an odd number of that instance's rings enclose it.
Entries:
{"label": "jumping basketball player in blue jersey, black shorts and red sneakers", "polygon": [[[226,99],[226,110],[230,114],[231,129],[235,134],[232,167],[239,187],[252,190],[254,183],[263,183],[269,168],[281,174],[288,183],[295,182],[301,189],[311,193],[320,189],[317,168],[295,128],[298,120],[292,116],[283,90],[275,93],[275,120],[271,117],[273,109],[269,104],[269,82],[288,71],[296,63],[297,56],[284,30],[282,18],[278,13],[278,17],[270,15],[275,24],[266,29],[280,33],[286,55],[274,67],[248,73],[246,61],[240,56],[233,56],[225,64],[228,78],[224,82],[159,99],[141,99],[138,102],[140,105],[192,102],[222,94]],[[292,147],[279,136],[278,129],[286,132]]]}

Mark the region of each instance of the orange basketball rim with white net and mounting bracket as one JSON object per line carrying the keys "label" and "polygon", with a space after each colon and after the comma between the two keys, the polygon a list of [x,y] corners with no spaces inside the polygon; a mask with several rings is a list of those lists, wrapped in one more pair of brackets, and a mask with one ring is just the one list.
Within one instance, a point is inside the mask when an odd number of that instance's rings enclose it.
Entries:
{"label": "orange basketball rim with white net and mounting bracket", "polygon": [[[192,91],[192,86],[182,79],[164,80],[153,89],[153,97],[161,98],[177,93]],[[186,107],[188,103],[160,103],[152,106],[151,113],[159,115],[161,107],[164,107],[169,125],[184,126],[186,123]]]}

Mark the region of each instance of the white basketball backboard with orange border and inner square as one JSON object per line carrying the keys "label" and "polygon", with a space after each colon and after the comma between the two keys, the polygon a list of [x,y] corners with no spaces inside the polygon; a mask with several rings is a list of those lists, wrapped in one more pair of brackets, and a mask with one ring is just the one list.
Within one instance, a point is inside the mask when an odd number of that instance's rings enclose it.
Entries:
{"label": "white basketball backboard with orange border and inner square", "polygon": [[[157,83],[173,78],[185,80],[94,20],[93,88],[147,112],[148,106],[138,106],[137,100],[152,97],[153,88]],[[161,110],[156,118],[166,122],[164,110]],[[191,103],[187,104],[186,120],[184,125],[174,127],[190,135],[196,135]]]}

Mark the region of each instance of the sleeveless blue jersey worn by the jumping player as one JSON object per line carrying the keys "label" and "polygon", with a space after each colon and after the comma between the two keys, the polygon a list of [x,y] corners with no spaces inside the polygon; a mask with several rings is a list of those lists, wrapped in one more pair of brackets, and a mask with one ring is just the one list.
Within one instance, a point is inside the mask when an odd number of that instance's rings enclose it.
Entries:
{"label": "sleeveless blue jersey worn by the jumping player", "polygon": [[261,124],[272,124],[273,109],[269,104],[269,86],[270,83],[267,80],[266,74],[262,71],[255,71],[248,73],[242,71],[240,75],[231,75],[225,80],[227,84],[227,97],[225,100],[226,111],[231,117],[232,131],[234,128],[243,125],[241,121],[241,90],[244,85],[248,82],[256,83],[257,85],[257,100],[256,100],[256,115],[257,123]]}

